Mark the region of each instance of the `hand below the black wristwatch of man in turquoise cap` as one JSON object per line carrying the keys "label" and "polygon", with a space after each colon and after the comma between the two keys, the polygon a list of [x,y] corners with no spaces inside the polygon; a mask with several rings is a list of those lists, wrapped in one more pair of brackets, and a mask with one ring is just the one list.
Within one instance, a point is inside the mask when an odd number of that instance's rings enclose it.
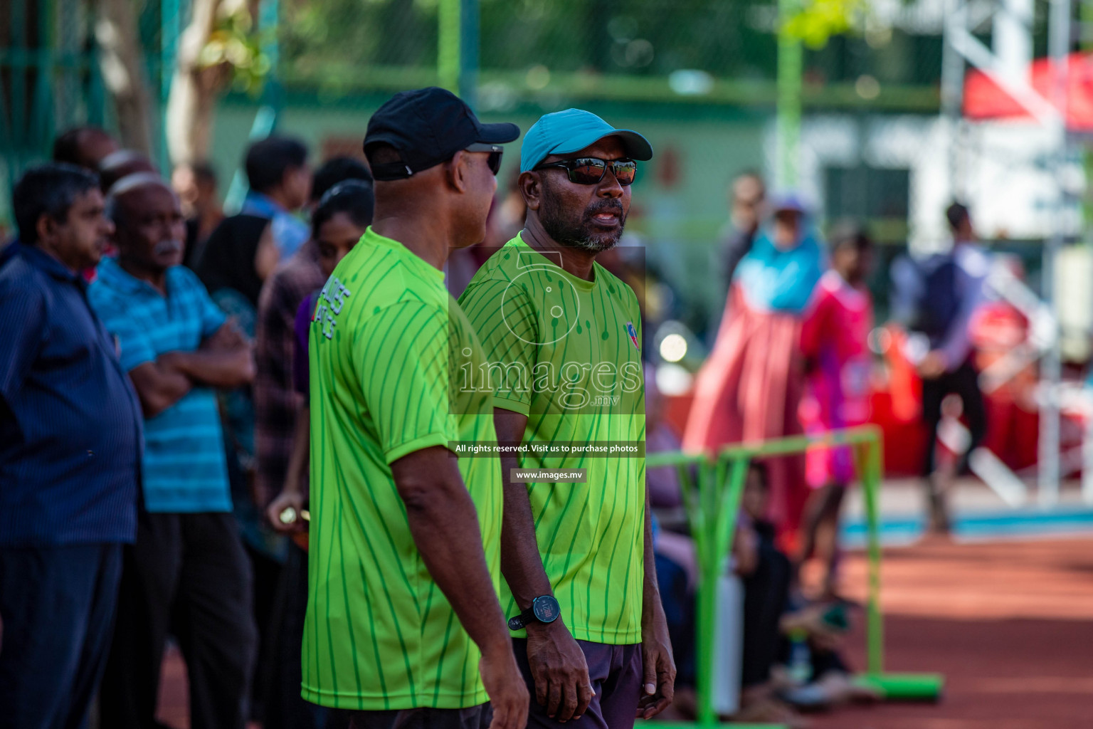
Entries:
{"label": "hand below the black wristwatch of man in turquoise cap", "polygon": [[536,701],[559,721],[579,719],[592,701],[585,654],[561,619],[528,624],[528,666],[536,680]]}

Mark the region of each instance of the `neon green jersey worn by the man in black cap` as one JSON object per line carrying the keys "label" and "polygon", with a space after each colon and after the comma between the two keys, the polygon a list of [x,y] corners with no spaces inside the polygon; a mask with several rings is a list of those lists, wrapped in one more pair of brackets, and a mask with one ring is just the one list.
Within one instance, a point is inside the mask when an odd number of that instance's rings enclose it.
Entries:
{"label": "neon green jersey worn by the man in black cap", "polygon": [[[312,522],[303,696],[346,709],[486,702],[480,652],[414,546],[390,463],[496,440],[487,392],[451,400],[448,364],[481,345],[444,274],[369,227],[319,296],[310,332]],[[460,458],[500,588],[496,459]]]}

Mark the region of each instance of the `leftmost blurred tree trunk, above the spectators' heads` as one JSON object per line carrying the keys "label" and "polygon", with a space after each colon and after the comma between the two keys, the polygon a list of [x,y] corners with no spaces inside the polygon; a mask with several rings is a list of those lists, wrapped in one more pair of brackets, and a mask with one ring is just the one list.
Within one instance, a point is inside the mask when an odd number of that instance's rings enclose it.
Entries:
{"label": "leftmost blurred tree trunk, above the spectators' heads", "polygon": [[151,155],[151,94],[133,0],[98,0],[95,38],[102,49],[103,82],[114,98],[121,143]]}

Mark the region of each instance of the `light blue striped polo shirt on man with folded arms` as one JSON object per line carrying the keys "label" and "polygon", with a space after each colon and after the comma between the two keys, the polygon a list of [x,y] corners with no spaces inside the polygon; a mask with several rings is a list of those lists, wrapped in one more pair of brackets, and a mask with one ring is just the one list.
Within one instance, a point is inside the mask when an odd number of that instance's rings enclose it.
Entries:
{"label": "light blue striped polo shirt on man with folded arms", "polygon": [[[224,314],[187,268],[167,270],[166,296],[113,259],[98,264],[91,305],[118,338],[127,372],[166,352],[193,352]],[[230,512],[224,438],[212,388],[195,387],[144,421],[144,505],[152,513]]]}

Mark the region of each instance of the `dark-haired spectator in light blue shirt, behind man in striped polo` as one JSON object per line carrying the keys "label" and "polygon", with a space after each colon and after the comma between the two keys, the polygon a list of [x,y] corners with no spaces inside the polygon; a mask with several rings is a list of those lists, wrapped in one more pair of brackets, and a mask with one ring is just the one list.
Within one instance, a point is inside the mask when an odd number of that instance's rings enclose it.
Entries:
{"label": "dark-haired spectator in light blue shirt, behind man in striped polo", "polygon": [[294,214],[307,204],[312,191],[307,148],[297,139],[267,137],[250,145],[244,166],[250,190],[239,212],[273,221],[281,257],[292,256],[308,235],[307,225]]}

